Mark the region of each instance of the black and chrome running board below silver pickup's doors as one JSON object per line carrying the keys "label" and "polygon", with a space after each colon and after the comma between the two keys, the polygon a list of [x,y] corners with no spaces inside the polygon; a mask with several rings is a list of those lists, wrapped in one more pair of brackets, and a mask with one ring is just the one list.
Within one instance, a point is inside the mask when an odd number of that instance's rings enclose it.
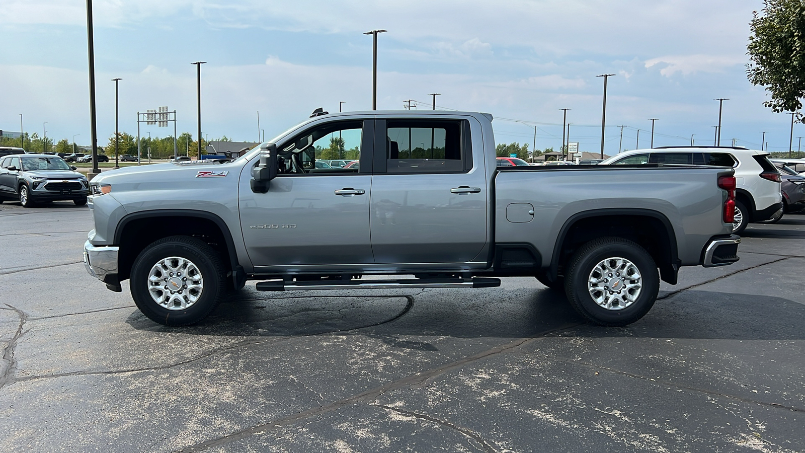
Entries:
{"label": "black and chrome running board below silver pickup's doors", "polygon": [[394,288],[493,288],[501,279],[476,276],[469,279],[403,279],[403,280],[324,280],[324,281],[260,281],[258,291],[295,291],[299,289],[394,289]]}

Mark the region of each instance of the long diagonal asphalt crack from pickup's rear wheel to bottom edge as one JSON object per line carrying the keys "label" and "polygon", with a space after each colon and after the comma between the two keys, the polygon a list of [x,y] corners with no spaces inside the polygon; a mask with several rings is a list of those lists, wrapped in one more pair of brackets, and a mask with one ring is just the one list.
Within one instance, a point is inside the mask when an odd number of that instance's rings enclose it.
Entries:
{"label": "long diagonal asphalt crack from pickup's rear wheel to bottom edge", "polygon": [[394,380],[387,384],[383,384],[379,387],[374,389],[366,390],[365,392],[358,393],[357,395],[353,395],[352,397],[346,397],[339,401],[334,401],[327,405],[322,405],[316,408],[304,410],[297,414],[291,414],[283,418],[278,418],[272,422],[262,423],[256,426],[251,426],[250,428],[246,428],[243,430],[235,431],[231,434],[227,434],[225,436],[221,436],[220,438],[210,439],[203,443],[197,443],[196,445],[192,445],[191,447],[184,448],[182,450],[177,451],[176,453],[190,453],[192,451],[203,451],[211,447],[220,447],[221,445],[225,445],[228,443],[237,442],[243,438],[248,438],[250,436],[256,434],[266,433],[268,431],[276,430],[282,426],[289,426],[295,422],[299,422],[308,418],[316,417],[320,414],[327,414],[332,412],[336,409],[341,409],[347,405],[354,405],[357,403],[369,403],[370,401],[376,400],[378,397],[382,396],[384,393],[403,389],[403,388],[416,388],[422,384],[427,383],[428,380],[436,378],[438,376],[443,375],[446,372],[450,372],[456,368],[461,368],[466,364],[472,364],[473,362],[477,362],[479,360],[487,359],[492,357],[493,355],[498,355],[501,353],[505,353],[511,351],[517,347],[521,347],[523,344],[528,343],[530,341],[544,338],[546,335],[554,334],[556,332],[562,330],[572,329],[573,327],[580,326],[584,324],[584,322],[574,322],[572,324],[567,324],[564,326],[555,327],[551,330],[543,331],[537,335],[532,335],[530,337],[516,339],[510,343],[506,343],[502,346],[493,347],[487,351],[479,352],[475,355],[469,355],[468,357],[464,357],[464,359],[456,360],[449,364],[444,364],[437,368],[432,368],[426,372],[417,372],[411,374],[409,376],[403,377],[399,380]]}

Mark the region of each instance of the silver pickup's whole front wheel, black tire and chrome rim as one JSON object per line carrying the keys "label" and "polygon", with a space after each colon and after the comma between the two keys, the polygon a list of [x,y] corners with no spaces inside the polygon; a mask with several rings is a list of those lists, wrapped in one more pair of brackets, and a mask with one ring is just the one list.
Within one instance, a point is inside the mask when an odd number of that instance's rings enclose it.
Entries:
{"label": "silver pickup's whole front wheel, black tire and chrome rim", "polygon": [[215,309],[226,290],[221,257],[204,241],[171,236],[151,243],[131,268],[131,297],[154,322],[189,326]]}

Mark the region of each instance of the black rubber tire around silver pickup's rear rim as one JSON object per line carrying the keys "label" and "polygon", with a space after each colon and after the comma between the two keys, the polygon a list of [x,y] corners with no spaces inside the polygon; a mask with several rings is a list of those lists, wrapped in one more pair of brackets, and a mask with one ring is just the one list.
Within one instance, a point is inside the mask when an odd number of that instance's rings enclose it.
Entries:
{"label": "black rubber tire around silver pickup's rear rim", "polygon": [[[629,260],[642,278],[642,288],[625,308],[607,309],[593,300],[588,280],[593,269],[609,258]],[[659,292],[657,264],[648,252],[628,239],[606,237],[585,243],[573,254],[565,273],[565,294],[573,308],[589,322],[599,326],[626,326],[642,318],[654,305]],[[617,284],[625,284],[624,279]],[[604,293],[601,291],[601,293]]]}

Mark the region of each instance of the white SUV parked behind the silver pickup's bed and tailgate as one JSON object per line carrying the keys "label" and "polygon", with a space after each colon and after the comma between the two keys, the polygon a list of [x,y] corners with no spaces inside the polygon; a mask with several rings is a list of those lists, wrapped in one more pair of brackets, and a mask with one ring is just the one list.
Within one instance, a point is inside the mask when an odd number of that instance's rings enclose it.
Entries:
{"label": "white SUV parked behind the silver pickup's bed and tailgate", "polygon": [[736,202],[733,233],[749,222],[774,218],[782,210],[780,173],[769,153],[733,147],[663,147],[621,152],[605,164],[687,164],[735,168]]}

